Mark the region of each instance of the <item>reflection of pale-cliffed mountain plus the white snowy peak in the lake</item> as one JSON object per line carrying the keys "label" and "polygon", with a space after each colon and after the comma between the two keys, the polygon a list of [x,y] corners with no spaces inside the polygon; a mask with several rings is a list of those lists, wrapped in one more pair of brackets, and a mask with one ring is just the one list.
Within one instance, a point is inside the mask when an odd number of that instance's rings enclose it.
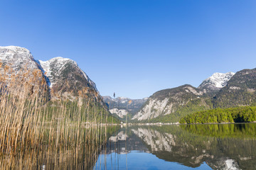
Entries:
{"label": "reflection of pale-cliffed mountain plus the white snowy peak in the lake", "polygon": [[[207,162],[213,169],[238,169],[238,163],[235,160],[225,157],[221,152],[218,155],[212,150],[212,141],[199,140],[195,136],[191,139],[186,132],[178,131],[179,127],[171,127],[173,132],[166,132],[164,128],[137,128],[132,131],[140,139],[146,142],[149,150],[156,157],[169,162],[178,162],[180,164],[198,167],[203,162]],[[181,129],[179,129],[181,130]],[[185,135],[185,136],[183,136]],[[193,140],[196,140],[194,145]]]}

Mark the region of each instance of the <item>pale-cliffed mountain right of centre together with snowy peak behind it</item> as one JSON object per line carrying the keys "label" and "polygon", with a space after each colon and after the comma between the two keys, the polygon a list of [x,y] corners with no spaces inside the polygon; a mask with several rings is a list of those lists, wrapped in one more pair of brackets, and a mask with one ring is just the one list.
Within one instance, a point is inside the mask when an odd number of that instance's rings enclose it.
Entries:
{"label": "pale-cliffed mountain right of centre together with snowy peak behind it", "polygon": [[[134,115],[132,120],[151,120],[164,117],[170,122],[178,121],[183,115],[210,109],[210,99],[215,96],[235,73],[215,73],[195,88],[191,85],[157,91],[149,97],[146,104]],[[207,94],[207,95],[204,95]],[[158,121],[158,120],[152,120]]]}

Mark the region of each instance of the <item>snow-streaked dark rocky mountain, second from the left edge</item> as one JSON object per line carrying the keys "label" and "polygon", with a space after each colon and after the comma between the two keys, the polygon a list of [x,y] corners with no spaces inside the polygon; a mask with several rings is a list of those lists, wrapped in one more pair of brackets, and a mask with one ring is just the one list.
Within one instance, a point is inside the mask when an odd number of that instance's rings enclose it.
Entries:
{"label": "snow-streaked dark rocky mountain, second from the left edge", "polygon": [[73,60],[63,57],[55,57],[46,62],[37,61],[43,73],[45,73],[53,94],[61,94],[66,91],[78,91],[89,88],[97,91],[95,83],[78,67]]}

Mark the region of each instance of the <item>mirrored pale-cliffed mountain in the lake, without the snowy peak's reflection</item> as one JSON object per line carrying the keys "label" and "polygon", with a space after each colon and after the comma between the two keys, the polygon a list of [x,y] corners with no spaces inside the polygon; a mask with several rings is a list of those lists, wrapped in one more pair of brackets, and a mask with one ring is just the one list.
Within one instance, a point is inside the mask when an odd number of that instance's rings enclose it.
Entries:
{"label": "mirrored pale-cliffed mountain in the lake, without the snowy peak's reflection", "polygon": [[206,153],[207,146],[199,149],[198,146],[193,146],[189,142],[183,142],[177,137],[179,134],[175,134],[178,127],[171,128],[174,128],[174,132],[161,131],[159,127],[137,128],[132,131],[148,145],[152,154],[169,162],[198,167],[206,161],[207,157],[211,157]]}

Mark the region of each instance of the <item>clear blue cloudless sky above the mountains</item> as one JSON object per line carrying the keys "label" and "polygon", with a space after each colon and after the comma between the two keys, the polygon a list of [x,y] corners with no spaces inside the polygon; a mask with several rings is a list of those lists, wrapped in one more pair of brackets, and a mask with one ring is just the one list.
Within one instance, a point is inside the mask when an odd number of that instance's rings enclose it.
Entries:
{"label": "clear blue cloudless sky above the mountains", "polygon": [[102,96],[144,98],[256,67],[255,0],[0,0],[0,46],[66,57]]}

